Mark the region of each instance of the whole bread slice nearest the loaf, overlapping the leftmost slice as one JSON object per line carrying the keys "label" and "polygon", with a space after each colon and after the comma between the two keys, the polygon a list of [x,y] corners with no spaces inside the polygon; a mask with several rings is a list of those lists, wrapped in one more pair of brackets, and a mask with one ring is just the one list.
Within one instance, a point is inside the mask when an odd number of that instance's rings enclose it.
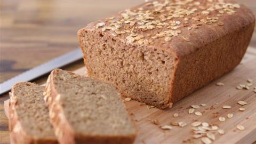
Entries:
{"label": "whole bread slice nearest the loaf, overlapping the leftmost slice", "polygon": [[55,69],[45,101],[60,143],[132,143],[136,131],[111,84]]}

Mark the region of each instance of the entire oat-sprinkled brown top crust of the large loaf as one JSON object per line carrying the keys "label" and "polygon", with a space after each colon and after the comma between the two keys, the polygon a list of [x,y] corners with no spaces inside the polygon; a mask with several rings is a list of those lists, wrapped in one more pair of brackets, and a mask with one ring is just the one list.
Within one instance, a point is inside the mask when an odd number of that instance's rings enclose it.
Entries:
{"label": "entire oat-sprinkled brown top crust of the large loaf", "polygon": [[254,21],[249,9],[230,0],[159,0],[89,23],[85,29],[182,57]]}

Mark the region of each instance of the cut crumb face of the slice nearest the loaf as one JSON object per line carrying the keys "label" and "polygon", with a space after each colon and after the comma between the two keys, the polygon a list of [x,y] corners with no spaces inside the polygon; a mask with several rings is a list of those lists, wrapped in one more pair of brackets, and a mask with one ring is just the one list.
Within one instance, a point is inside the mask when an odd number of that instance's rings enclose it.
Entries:
{"label": "cut crumb face of the slice nearest the loaf", "polygon": [[135,134],[121,95],[113,85],[59,69],[53,73],[52,82],[75,133],[102,137]]}

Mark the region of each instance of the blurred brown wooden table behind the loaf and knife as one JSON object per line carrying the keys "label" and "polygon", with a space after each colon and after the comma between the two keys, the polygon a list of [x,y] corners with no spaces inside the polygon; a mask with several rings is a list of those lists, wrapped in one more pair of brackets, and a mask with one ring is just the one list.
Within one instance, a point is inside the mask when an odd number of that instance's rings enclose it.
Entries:
{"label": "blurred brown wooden table behind the loaf and knife", "polygon": [[[76,32],[86,23],[127,9],[142,0],[0,1],[0,82],[64,54],[78,46]],[[242,0],[256,15],[255,0]],[[256,47],[256,29],[250,46]],[[83,67],[77,61],[63,69]],[[36,79],[41,84],[46,76]],[[7,118],[0,97],[0,143],[9,143]]]}

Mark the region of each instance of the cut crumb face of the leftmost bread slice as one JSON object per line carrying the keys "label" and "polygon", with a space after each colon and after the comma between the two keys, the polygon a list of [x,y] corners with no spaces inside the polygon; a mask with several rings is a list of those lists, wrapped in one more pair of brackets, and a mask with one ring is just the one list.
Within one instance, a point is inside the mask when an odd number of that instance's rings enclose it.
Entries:
{"label": "cut crumb face of the leftmost bread slice", "polygon": [[[14,109],[19,127],[34,139],[55,138],[43,91],[43,86],[26,82],[15,84],[11,93],[11,102],[14,99],[17,101],[14,102]],[[13,131],[18,132],[15,127]]]}

